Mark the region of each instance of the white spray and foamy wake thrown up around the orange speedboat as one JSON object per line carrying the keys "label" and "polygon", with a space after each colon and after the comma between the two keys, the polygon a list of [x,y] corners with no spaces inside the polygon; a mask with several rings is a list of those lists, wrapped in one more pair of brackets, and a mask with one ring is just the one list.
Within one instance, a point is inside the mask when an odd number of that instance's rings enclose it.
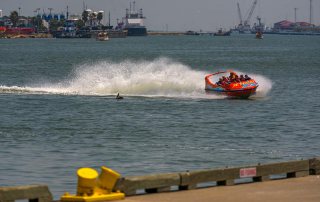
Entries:
{"label": "white spray and foamy wake thrown up around the orange speedboat", "polygon": [[[221,96],[205,94],[204,76],[208,73],[167,58],[120,63],[100,61],[78,66],[68,79],[58,83],[0,86],[0,93],[114,96],[119,92],[125,96],[219,99]],[[271,89],[271,81],[252,76],[262,89],[258,88],[257,95],[265,96]]]}

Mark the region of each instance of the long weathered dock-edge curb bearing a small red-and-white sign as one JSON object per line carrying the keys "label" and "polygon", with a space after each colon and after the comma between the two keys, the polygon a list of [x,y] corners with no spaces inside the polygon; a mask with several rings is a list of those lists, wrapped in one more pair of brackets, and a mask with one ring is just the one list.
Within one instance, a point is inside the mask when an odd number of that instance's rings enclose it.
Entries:
{"label": "long weathered dock-edge curb bearing a small red-and-white sign", "polygon": [[320,173],[320,158],[251,166],[124,177],[116,189],[126,196],[262,182]]}

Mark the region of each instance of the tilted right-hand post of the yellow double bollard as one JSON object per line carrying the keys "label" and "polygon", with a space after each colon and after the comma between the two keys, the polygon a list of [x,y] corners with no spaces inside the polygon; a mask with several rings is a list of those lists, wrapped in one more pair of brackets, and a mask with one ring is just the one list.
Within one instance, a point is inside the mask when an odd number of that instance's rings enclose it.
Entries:
{"label": "tilted right-hand post of the yellow double bollard", "polygon": [[121,175],[116,171],[111,170],[110,168],[107,168],[105,166],[102,166],[101,173],[98,178],[98,186],[101,189],[105,189],[109,192],[112,192],[120,176]]}

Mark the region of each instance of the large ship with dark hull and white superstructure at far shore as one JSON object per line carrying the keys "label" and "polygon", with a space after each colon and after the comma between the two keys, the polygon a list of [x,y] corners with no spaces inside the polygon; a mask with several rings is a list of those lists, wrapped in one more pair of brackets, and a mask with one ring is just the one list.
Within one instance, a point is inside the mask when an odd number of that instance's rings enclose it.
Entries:
{"label": "large ship with dark hull and white superstructure at far shore", "polygon": [[126,16],[123,18],[123,22],[118,23],[118,28],[127,31],[127,36],[146,36],[145,17],[142,9],[139,9],[139,12],[135,10],[135,4],[135,1],[130,3],[130,9],[126,9]]}

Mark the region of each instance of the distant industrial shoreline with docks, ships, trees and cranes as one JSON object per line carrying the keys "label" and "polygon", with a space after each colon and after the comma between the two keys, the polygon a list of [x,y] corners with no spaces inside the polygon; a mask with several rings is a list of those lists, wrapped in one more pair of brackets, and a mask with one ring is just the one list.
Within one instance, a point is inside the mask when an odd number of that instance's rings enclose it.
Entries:
{"label": "distant industrial shoreline with docks, ships, trees and cranes", "polygon": [[[314,23],[313,1],[309,3],[309,21],[301,21],[298,16],[298,8],[293,7],[294,19],[284,19],[273,22],[272,26],[267,26],[263,16],[255,12],[258,0],[253,0],[247,9],[241,9],[237,3],[238,23],[229,25],[229,28],[220,28],[218,32],[214,30],[180,30],[169,31],[168,24],[166,29],[157,31],[149,30],[152,35],[215,35],[229,36],[231,33],[238,34],[281,34],[281,35],[320,35],[320,27]],[[108,33],[110,38],[124,38],[126,36],[147,36],[145,26],[146,16],[142,8],[136,8],[136,2],[132,1],[127,8],[123,8],[123,16],[117,18],[116,22],[111,23],[110,11],[93,10],[84,3],[81,15],[69,13],[68,6],[65,12],[53,13],[53,8],[41,11],[36,8],[35,16],[23,16],[21,8],[19,11],[10,11],[10,15],[3,15],[0,10],[0,38],[95,38],[99,32]],[[244,12],[246,11],[246,12]],[[108,21],[103,23],[103,21]],[[270,24],[270,23],[269,23]],[[229,29],[229,30],[228,30]],[[41,34],[39,34],[41,33]],[[227,33],[227,34],[221,34]]]}

